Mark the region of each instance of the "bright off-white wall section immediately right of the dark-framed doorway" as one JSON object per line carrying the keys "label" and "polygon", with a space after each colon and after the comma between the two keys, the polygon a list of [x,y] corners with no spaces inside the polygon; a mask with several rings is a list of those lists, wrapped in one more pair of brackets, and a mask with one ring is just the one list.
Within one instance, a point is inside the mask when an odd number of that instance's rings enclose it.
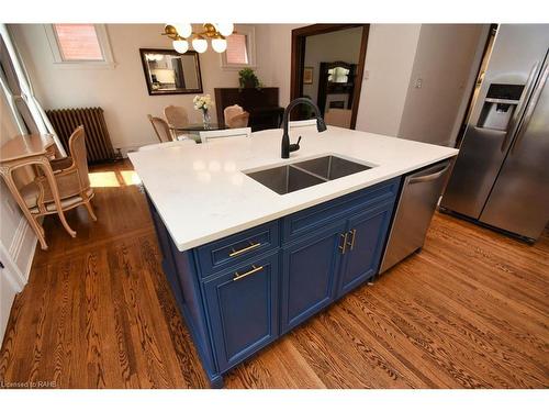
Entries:
{"label": "bright off-white wall section immediately right of the dark-framed doorway", "polygon": [[370,25],[357,130],[399,134],[421,27],[421,24]]}

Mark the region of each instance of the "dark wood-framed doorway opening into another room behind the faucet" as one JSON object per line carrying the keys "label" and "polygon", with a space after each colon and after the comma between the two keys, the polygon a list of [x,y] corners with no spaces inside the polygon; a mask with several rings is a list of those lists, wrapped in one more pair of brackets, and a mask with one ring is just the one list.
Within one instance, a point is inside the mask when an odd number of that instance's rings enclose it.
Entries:
{"label": "dark wood-framed doorway opening into another room behind the faucet", "polygon": [[[292,31],[291,99],[309,97],[327,124],[355,129],[369,24],[313,24]],[[309,119],[301,105],[292,119]]]}

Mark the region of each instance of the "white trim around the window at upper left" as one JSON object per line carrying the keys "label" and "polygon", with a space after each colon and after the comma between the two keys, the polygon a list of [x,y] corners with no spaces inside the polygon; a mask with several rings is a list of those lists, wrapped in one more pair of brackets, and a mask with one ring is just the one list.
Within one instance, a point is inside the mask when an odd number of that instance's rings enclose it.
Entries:
{"label": "white trim around the window at upper left", "polygon": [[107,34],[107,26],[104,24],[93,24],[98,35],[99,46],[104,57],[103,60],[64,60],[59,43],[57,42],[57,34],[53,24],[44,24],[47,42],[52,49],[54,64],[61,68],[114,68],[116,65],[112,56],[111,43]]}

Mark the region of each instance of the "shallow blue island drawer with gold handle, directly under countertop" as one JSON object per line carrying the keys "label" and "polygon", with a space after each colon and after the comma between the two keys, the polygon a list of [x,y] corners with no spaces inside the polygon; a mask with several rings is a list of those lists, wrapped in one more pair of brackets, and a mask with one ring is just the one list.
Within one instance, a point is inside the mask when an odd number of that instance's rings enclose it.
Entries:
{"label": "shallow blue island drawer with gold handle, directly under countertop", "polygon": [[272,221],[198,247],[202,277],[279,247],[279,222]]}

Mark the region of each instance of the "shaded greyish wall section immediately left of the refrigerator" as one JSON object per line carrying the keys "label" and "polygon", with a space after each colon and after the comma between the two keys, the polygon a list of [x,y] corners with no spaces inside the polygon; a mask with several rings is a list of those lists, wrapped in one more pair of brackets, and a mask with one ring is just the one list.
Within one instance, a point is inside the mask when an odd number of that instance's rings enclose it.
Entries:
{"label": "shaded greyish wall section immediately left of the refrigerator", "polygon": [[[481,34],[480,24],[423,24],[406,102],[397,135],[403,138],[449,145],[462,101],[471,93],[470,74]],[[421,81],[422,87],[417,87]]]}

